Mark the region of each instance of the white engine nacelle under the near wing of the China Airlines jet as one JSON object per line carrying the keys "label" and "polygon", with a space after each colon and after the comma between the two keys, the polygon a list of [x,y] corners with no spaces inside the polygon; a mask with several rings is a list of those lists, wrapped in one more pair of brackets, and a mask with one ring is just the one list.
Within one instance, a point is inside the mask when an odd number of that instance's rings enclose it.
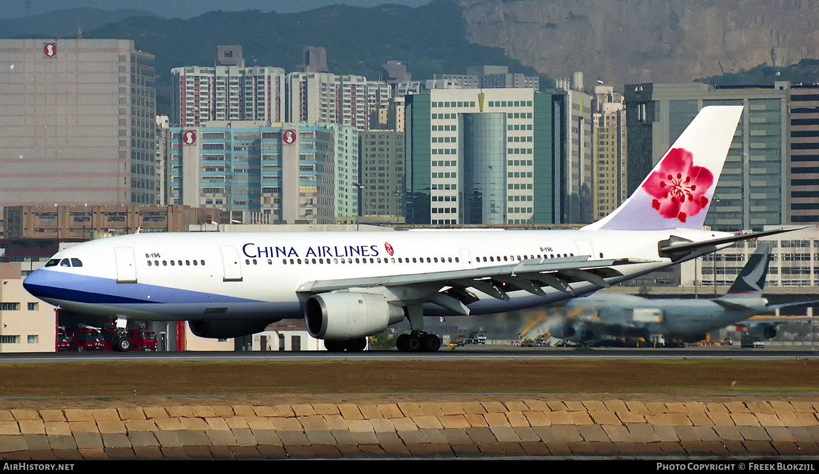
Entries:
{"label": "white engine nacelle under the near wing of the China Airlines jet", "polygon": [[348,341],[372,336],[402,319],[404,309],[374,293],[320,293],[310,296],[305,304],[307,332],[319,339]]}

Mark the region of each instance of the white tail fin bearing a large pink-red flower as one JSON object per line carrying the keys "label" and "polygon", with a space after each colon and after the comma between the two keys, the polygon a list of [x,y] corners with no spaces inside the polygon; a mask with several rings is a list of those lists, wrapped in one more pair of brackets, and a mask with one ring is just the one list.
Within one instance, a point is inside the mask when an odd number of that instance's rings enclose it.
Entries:
{"label": "white tail fin bearing a large pink-red flower", "polygon": [[631,197],[587,229],[702,228],[742,106],[703,107]]}

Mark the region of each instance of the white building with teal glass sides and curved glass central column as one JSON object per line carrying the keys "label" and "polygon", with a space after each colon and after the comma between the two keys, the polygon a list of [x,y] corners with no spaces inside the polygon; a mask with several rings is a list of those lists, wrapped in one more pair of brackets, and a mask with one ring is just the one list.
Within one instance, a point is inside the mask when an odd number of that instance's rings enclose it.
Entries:
{"label": "white building with teal glass sides and curved glass central column", "polygon": [[433,89],[406,100],[408,223],[562,223],[566,93]]}

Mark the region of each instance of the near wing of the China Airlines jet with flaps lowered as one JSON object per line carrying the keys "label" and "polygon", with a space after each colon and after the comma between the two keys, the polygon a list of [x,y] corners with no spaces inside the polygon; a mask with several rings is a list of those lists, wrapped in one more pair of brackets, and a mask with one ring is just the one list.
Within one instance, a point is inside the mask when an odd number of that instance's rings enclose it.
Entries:
{"label": "near wing of the China Airlines jet with flaps lowered", "polygon": [[[477,296],[470,293],[468,288],[482,291],[500,300],[509,300],[507,292],[518,290],[545,296],[542,287],[553,287],[573,295],[574,291],[569,283],[590,282],[598,287],[609,287],[609,282],[604,278],[622,275],[614,267],[651,261],[654,260],[590,260],[590,255],[529,259],[480,269],[319,280],[305,282],[296,291],[316,294],[353,287],[404,289],[409,290],[408,298],[411,300],[430,301],[457,314],[465,315],[469,314],[466,305],[477,301]],[[441,291],[443,288],[446,290]],[[408,293],[405,291],[403,294]]]}

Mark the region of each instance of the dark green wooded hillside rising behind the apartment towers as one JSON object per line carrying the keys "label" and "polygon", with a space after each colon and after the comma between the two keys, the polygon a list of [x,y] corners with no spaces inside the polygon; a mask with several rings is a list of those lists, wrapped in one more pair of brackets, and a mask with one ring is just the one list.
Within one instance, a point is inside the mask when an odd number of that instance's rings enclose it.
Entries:
{"label": "dark green wooded hillside rising behind the apartment towers", "polygon": [[[213,65],[216,46],[242,46],[246,65],[298,70],[306,46],[325,47],[335,74],[378,79],[387,60],[404,61],[413,79],[465,74],[469,65],[508,65],[510,72],[537,75],[499,48],[468,43],[461,9],[452,0],[423,7],[362,8],[333,5],[280,14],[211,11],[190,20],[132,17],[87,31],[85,38],[133,39],[156,56],[158,85],[170,86],[170,69]],[[541,84],[552,81],[541,77]]]}

